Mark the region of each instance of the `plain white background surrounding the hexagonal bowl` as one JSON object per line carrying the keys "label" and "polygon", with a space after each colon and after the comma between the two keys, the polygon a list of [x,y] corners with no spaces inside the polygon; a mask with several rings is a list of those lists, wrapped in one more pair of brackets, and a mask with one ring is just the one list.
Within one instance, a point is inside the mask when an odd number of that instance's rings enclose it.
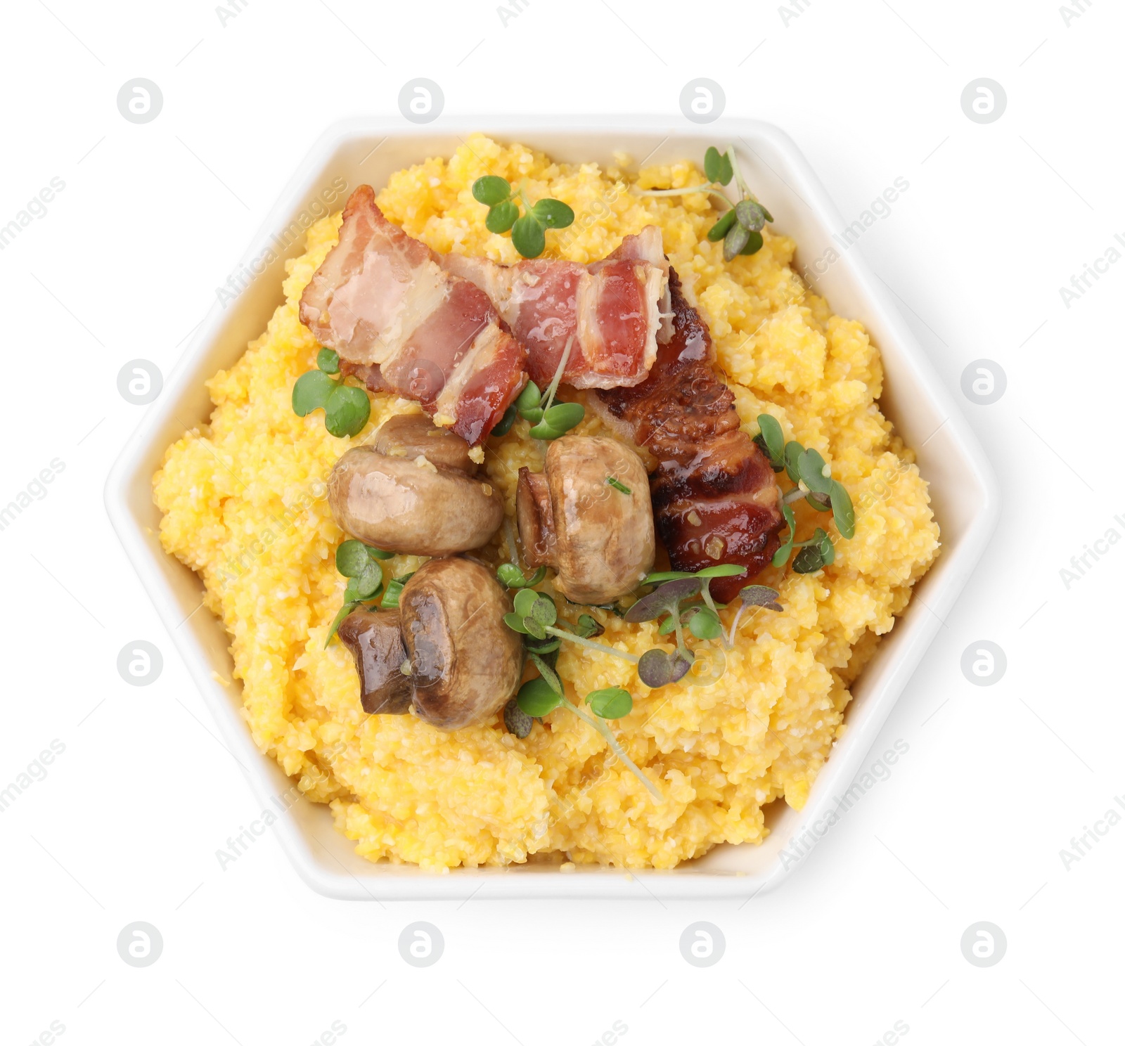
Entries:
{"label": "plain white background surrounding the hexagonal bowl", "polygon": [[[53,739],[65,752],[0,815],[0,1039],[60,1021],[64,1044],[304,1046],[341,1021],[344,1044],[583,1046],[620,1021],[626,1046],[842,1046],[900,1021],[909,1046],[1119,1042],[1125,824],[1069,868],[1060,850],[1125,802],[1125,543],[1069,589],[1060,570],[1125,534],[1125,264],[1070,308],[1059,288],[1125,234],[1122,10],[1076,0],[1068,25],[1047,0],[790,0],[788,18],[758,0],[521,6],[506,26],[476,0],[251,0],[225,25],[202,0],[6,6],[0,225],[52,178],[65,189],[0,252],[0,503],[52,459],[65,469],[0,532],[0,787]],[[150,124],[116,107],[135,76],[164,96]],[[951,387],[980,358],[1007,373],[991,406],[957,393],[1005,510],[872,759],[909,751],[745,907],[639,889],[623,904],[342,903],[269,833],[216,859],[260,811],[105,516],[143,409],[116,376],[135,358],[166,375],[310,142],[396,114],[415,76],[451,114],[675,119],[688,80],[717,80],[727,115],[796,139],[849,220],[909,181],[861,250]],[[1008,98],[988,125],[960,103],[979,76]],[[138,638],[164,655],[148,687],[116,669]],[[961,671],[980,639],[1007,653],[994,686]],[[117,954],[136,920],[163,937],[146,968]],[[397,949],[417,920],[446,941],[424,970]],[[708,968],[680,954],[699,920],[726,938]],[[989,968],[961,949],[982,920],[1007,938]]]}

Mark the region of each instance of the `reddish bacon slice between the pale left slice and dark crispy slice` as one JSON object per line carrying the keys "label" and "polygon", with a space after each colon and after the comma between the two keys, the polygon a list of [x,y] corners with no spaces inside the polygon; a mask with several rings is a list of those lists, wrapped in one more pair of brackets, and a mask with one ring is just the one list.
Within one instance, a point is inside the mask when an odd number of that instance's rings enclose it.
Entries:
{"label": "reddish bacon slice between the pale left slice and dark crispy slice", "polygon": [[447,254],[441,264],[488,295],[528,350],[528,373],[540,388],[572,337],[562,381],[574,388],[638,385],[656,359],[668,263],[655,225],[592,265],[550,259],[500,265],[464,254]]}

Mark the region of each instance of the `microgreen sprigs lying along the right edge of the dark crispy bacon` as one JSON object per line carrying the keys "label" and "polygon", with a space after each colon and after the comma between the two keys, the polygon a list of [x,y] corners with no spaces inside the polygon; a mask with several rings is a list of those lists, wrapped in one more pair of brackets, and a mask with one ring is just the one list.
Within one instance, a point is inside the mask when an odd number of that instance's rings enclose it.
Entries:
{"label": "microgreen sprigs lying along the right edge of the dark crispy bacon", "polygon": [[796,540],[796,517],[789,506],[804,498],[817,512],[830,512],[836,530],[842,538],[855,536],[855,508],[852,497],[838,479],[832,479],[831,469],[820,451],[804,448],[795,440],[788,443],[782,435],[781,424],[772,414],[758,415],[758,434],[754,442],[766,456],[775,472],[785,472],[793,481],[792,489],[782,495],[782,515],[789,533],[781,548],[774,553],[773,565],[784,567],[793,549],[800,549],[793,559],[796,574],[814,574],[821,567],[830,566],[836,559],[832,539],[822,527],[817,527],[806,541]]}

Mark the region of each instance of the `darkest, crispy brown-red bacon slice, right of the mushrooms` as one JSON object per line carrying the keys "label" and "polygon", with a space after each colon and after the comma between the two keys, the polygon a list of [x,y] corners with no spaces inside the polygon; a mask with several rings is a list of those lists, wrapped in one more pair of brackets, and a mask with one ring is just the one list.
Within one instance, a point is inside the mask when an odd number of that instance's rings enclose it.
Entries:
{"label": "darkest, crispy brown-red bacon slice, right of the mushrooms", "polygon": [[711,333],[687,304],[673,269],[672,336],[648,378],[600,389],[598,413],[657,459],[649,476],[656,530],[675,570],[739,563],[747,572],[714,578],[721,602],[763,570],[784,525],[781,495],[765,456],[739,427],[735,397],[716,375]]}

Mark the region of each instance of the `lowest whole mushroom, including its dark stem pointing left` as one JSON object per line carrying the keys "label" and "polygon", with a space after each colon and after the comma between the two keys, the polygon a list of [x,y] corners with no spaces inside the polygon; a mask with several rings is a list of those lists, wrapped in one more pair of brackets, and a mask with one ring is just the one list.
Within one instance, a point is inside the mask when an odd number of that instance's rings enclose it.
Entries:
{"label": "lowest whole mushroom, including its dark stem pointing left", "polygon": [[443,730],[484,722],[520,685],[523,647],[492,571],[461,557],[432,559],[403,586],[397,611],[356,611],[340,638],[356,659],[363,711]]}

